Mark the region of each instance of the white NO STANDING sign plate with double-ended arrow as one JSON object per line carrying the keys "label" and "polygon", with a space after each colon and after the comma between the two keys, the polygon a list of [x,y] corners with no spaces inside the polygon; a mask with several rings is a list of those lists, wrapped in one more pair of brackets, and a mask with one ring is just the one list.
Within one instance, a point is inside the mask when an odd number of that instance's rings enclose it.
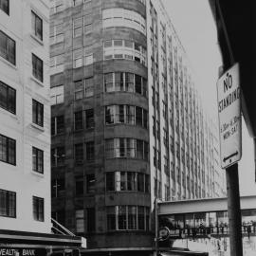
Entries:
{"label": "white NO STANDING sign plate with double-ended arrow", "polygon": [[221,167],[226,169],[242,156],[241,90],[239,64],[217,82]]}

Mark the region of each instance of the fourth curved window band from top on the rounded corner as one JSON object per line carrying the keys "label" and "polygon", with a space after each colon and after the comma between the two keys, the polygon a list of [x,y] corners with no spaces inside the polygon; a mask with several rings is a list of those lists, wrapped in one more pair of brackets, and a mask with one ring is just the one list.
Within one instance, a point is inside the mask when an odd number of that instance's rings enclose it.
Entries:
{"label": "fourth curved window band from top on the rounded corner", "polygon": [[129,123],[148,128],[148,111],[138,106],[110,105],[105,107],[105,123]]}

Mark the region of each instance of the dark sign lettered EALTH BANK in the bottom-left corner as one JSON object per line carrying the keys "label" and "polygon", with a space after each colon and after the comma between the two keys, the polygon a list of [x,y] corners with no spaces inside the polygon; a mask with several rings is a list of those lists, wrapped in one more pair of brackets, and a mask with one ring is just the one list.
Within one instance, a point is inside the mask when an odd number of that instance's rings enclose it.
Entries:
{"label": "dark sign lettered EALTH BANK in the bottom-left corner", "polygon": [[0,256],[46,256],[46,248],[0,247]]}

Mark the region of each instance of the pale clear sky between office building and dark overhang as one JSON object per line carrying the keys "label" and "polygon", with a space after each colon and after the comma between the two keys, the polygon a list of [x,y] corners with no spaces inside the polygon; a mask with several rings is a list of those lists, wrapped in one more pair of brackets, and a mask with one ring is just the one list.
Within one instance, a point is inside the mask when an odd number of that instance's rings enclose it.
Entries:
{"label": "pale clear sky between office building and dark overhang", "polygon": [[[211,119],[218,121],[218,68],[222,65],[215,23],[208,0],[162,0],[178,37],[192,64],[203,106]],[[239,162],[241,195],[256,194],[253,140],[243,122],[243,154]],[[225,170],[223,171],[225,172]]]}

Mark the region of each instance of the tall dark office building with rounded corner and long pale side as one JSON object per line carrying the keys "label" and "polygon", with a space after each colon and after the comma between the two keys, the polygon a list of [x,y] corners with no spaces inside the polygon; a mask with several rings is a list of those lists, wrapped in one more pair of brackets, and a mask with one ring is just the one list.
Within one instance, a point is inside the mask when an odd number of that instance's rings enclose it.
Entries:
{"label": "tall dark office building with rounded corner and long pale side", "polygon": [[186,52],[159,0],[51,5],[52,215],[87,252],[148,254],[155,197],[222,193]]}

